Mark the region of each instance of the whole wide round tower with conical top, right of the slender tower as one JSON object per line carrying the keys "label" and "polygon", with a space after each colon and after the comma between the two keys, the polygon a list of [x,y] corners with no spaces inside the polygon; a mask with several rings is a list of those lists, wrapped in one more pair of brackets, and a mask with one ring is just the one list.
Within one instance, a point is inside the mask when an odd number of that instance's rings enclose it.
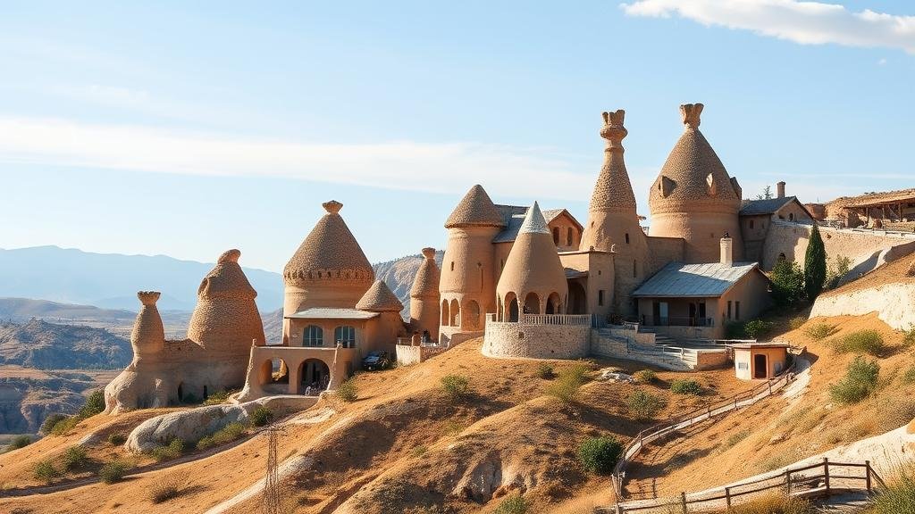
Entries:
{"label": "whole wide round tower with conical top, right of the slender tower", "polygon": [[651,186],[651,236],[683,238],[686,262],[717,262],[718,241],[729,232],[735,261],[743,255],[737,211],[740,187],[727,175],[699,132],[702,103],[680,106],[684,134]]}

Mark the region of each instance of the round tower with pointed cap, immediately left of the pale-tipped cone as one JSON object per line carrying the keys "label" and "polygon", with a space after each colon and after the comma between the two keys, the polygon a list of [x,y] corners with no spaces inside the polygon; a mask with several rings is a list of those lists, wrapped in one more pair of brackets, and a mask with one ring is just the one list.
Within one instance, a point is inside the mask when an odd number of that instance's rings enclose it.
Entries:
{"label": "round tower with pointed cap, immediately left of the pale-tipped cone", "polygon": [[438,290],[440,334],[483,329],[483,316],[495,312],[492,238],[505,226],[482,186],[471,187],[445,222],[448,241]]}

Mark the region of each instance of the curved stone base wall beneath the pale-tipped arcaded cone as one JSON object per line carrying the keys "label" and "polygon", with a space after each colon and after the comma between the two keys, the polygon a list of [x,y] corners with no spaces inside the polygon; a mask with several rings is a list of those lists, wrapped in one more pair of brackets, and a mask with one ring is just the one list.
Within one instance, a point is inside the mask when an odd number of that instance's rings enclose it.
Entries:
{"label": "curved stone base wall beneath the pale-tipped arcaded cone", "polygon": [[579,359],[588,354],[590,332],[590,326],[490,321],[482,350],[488,357]]}

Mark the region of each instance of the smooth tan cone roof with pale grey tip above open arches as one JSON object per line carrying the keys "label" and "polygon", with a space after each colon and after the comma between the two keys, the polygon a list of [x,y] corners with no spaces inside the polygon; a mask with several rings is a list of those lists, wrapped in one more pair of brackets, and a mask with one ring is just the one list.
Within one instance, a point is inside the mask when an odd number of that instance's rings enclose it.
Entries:
{"label": "smooth tan cone roof with pale grey tip above open arches", "polygon": [[553,236],[536,202],[528,209],[521,230],[518,230],[496,291],[500,297],[515,293],[519,298],[537,293],[542,303],[547,295],[557,293],[565,302],[568,293],[565,268],[559,261]]}

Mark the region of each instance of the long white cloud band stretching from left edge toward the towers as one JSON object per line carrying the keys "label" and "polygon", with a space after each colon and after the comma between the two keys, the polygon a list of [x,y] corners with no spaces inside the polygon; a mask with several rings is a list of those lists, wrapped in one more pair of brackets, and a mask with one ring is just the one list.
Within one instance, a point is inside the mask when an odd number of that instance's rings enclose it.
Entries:
{"label": "long white cloud band stretching from left edge toward the towers", "polygon": [[580,200],[589,198],[594,181],[594,173],[576,173],[544,148],[411,141],[315,144],[41,118],[0,118],[0,165],[4,163],[286,177],[442,193],[462,193],[479,183],[503,198]]}

